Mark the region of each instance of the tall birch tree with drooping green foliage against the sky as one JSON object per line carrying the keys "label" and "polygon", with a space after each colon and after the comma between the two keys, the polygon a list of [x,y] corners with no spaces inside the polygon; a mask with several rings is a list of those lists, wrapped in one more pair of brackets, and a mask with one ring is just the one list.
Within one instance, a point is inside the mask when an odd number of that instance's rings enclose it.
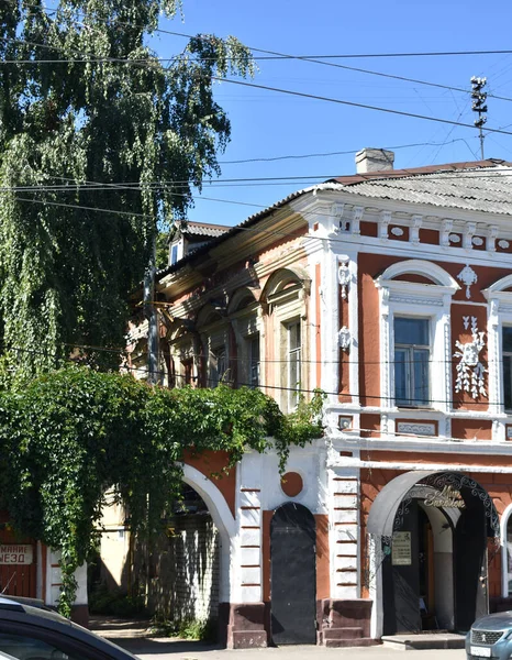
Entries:
{"label": "tall birch tree with drooping green foliage against the sky", "polygon": [[[69,346],[120,346],[157,227],[219,174],[212,76],[252,73],[233,37],[148,46],[179,0],[0,2],[0,340],[32,376]],[[103,209],[103,210],[98,210]],[[115,352],[87,350],[113,366]]]}

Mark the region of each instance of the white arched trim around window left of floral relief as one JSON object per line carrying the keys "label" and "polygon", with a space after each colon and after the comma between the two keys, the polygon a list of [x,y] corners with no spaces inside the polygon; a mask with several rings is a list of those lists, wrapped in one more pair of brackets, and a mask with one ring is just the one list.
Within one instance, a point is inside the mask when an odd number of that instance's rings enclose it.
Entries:
{"label": "white arched trim around window left of floral relief", "polygon": [[[394,279],[413,274],[433,284]],[[435,383],[432,408],[448,413],[452,397],[450,305],[460,288],[441,266],[422,260],[393,264],[375,280],[380,298],[380,397],[381,407],[398,410],[394,403],[394,317],[431,320],[431,383]],[[369,393],[371,394],[371,393]]]}

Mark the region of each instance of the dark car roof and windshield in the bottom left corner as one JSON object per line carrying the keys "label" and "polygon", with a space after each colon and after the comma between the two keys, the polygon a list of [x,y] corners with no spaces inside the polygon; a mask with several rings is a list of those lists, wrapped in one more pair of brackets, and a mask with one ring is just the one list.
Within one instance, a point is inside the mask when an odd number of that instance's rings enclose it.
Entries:
{"label": "dark car roof and windshield in the bottom left corner", "polygon": [[0,660],[135,660],[42,603],[0,596]]}

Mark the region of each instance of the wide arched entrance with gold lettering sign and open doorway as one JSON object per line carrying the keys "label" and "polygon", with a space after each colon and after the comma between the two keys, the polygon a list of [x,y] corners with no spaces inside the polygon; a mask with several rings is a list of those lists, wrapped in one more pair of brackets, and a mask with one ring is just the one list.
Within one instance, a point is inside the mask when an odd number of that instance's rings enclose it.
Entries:
{"label": "wide arched entrance with gold lettering sign and open doorway", "polygon": [[487,614],[488,543],[499,518],[478,482],[409,472],[387,484],[367,522],[372,536],[376,636],[468,630]]}

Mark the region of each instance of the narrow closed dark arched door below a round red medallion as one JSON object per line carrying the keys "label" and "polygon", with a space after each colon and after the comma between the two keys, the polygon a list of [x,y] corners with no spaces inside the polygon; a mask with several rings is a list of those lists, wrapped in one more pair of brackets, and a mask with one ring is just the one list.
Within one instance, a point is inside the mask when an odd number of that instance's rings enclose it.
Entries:
{"label": "narrow closed dark arched door below a round red medallion", "polygon": [[271,635],[277,645],[316,644],[316,527],[294,502],[270,524]]}

